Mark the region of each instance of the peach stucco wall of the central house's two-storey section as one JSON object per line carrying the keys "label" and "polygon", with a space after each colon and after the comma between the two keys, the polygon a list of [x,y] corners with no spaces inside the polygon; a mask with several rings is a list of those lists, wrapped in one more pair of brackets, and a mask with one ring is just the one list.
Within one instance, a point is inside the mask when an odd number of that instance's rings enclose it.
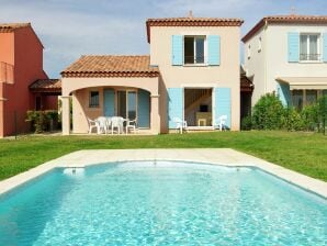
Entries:
{"label": "peach stucco wall of the central house's two-storey section", "polygon": [[[172,35],[219,35],[219,66],[172,66]],[[232,130],[239,130],[239,26],[153,26],[150,64],[159,67],[161,112],[167,110],[167,89],[176,87],[221,87],[232,89]],[[167,119],[167,116],[165,116]],[[167,122],[162,122],[162,127]]]}

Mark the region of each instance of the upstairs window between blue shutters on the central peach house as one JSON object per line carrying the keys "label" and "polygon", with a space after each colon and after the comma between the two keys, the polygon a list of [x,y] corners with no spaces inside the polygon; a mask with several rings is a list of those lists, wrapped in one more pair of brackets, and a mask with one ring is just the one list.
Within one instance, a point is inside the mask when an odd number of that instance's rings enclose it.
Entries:
{"label": "upstairs window between blue shutters on the central peach house", "polygon": [[204,64],[205,36],[184,37],[184,64]]}

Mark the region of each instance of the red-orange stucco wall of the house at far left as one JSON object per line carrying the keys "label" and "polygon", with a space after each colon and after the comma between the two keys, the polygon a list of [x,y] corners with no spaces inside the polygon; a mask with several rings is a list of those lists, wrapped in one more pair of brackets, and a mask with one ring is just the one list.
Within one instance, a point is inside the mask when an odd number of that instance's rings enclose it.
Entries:
{"label": "red-orange stucco wall of the house at far left", "polygon": [[43,46],[32,27],[0,33],[0,62],[14,66],[13,83],[1,83],[7,100],[0,102],[0,136],[12,135],[15,128],[26,132],[30,130],[25,122],[26,111],[34,108],[34,96],[29,86],[36,79],[47,78],[43,71]]}

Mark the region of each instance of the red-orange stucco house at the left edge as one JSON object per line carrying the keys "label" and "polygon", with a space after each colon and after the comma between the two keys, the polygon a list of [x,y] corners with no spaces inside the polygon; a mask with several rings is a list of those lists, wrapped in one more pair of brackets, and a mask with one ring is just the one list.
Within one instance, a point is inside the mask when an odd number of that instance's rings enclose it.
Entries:
{"label": "red-orange stucco house at the left edge", "polygon": [[31,23],[0,23],[0,137],[29,132],[26,111],[56,110],[55,94],[59,80],[43,70],[43,45]]}

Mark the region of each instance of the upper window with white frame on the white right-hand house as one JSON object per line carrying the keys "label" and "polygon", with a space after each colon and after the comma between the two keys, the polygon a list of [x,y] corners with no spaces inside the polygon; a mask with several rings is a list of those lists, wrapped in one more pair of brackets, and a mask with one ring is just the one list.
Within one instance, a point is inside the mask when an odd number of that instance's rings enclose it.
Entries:
{"label": "upper window with white frame on the white right-hand house", "polygon": [[319,34],[300,35],[300,60],[319,60]]}

